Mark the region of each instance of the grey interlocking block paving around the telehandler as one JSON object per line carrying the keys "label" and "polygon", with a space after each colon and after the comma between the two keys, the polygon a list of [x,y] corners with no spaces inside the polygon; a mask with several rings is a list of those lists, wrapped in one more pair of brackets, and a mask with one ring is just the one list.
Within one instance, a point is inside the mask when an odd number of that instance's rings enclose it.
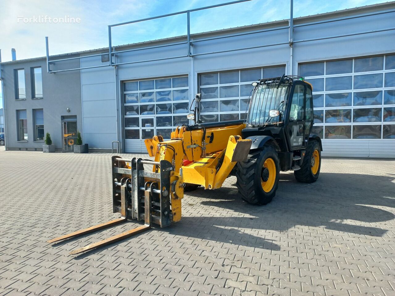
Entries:
{"label": "grey interlocking block paving around the telehandler", "polygon": [[72,256],[136,226],[45,243],[114,217],[110,155],[1,151],[0,296],[395,295],[394,168],[324,159],[314,184],[281,174],[263,207],[229,178],[185,196],[176,225]]}

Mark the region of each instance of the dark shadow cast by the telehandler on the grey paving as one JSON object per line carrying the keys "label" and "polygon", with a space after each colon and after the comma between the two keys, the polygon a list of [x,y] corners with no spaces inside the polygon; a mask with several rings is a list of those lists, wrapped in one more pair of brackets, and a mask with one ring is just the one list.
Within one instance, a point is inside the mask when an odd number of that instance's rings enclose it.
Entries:
{"label": "dark shadow cast by the telehandler on the grey paving", "polygon": [[[293,174],[280,174],[276,197],[266,206],[244,202],[235,187],[217,189],[218,194],[200,188],[187,194],[196,203],[192,206],[205,207],[201,215],[193,216],[187,210],[180,223],[163,231],[263,249],[279,249],[279,246],[265,240],[264,234],[257,237],[245,233],[243,229],[284,232],[302,225],[384,236],[387,232],[385,222],[394,219],[394,214],[377,206],[395,208],[395,199],[392,199],[395,198],[395,191],[389,192],[393,180],[395,177],[390,174],[321,173],[314,184],[303,184],[297,182]],[[213,208],[208,210],[207,206]],[[205,212],[214,213],[214,216],[206,216]],[[227,212],[237,214],[229,217]],[[370,223],[380,222],[384,225],[369,226]]]}

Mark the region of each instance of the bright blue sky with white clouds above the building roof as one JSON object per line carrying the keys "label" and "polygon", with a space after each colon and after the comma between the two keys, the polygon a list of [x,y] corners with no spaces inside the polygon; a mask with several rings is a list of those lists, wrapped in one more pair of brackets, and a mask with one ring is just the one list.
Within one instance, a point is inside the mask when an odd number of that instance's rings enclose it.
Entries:
{"label": "bright blue sky with white clouds above the building roof", "polygon": [[[229,2],[226,0],[0,0],[2,61],[45,56],[45,36],[50,54],[108,46],[109,24],[163,15]],[[294,0],[294,17],[371,5],[380,0]],[[289,18],[288,0],[251,0],[191,13],[191,33]],[[77,23],[25,23],[18,17],[79,18]],[[113,45],[186,34],[186,15],[130,24],[113,29]],[[1,96],[1,95],[0,95]],[[0,103],[1,104],[1,103]],[[1,107],[1,105],[0,105]]]}

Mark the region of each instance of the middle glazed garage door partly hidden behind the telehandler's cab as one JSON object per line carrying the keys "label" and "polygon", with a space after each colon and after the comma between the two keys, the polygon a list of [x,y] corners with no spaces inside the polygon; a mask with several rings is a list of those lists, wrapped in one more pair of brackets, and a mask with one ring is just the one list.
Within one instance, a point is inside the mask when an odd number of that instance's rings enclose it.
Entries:
{"label": "middle glazed garage door partly hidden behind the telehandler's cab", "polygon": [[244,119],[251,83],[261,78],[281,77],[285,65],[203,73],[199,75],[200,118],[203,122]]}

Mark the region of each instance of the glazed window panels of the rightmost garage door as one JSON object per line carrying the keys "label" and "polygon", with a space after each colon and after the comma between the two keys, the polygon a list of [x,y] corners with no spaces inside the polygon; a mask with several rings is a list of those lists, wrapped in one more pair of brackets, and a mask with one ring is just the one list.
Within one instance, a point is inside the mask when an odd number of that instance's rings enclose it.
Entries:
{"label": "glazed window panels of the rightmost garage door", "polygon": [[323,139],[394,139],[394,54],[299,64]]}

